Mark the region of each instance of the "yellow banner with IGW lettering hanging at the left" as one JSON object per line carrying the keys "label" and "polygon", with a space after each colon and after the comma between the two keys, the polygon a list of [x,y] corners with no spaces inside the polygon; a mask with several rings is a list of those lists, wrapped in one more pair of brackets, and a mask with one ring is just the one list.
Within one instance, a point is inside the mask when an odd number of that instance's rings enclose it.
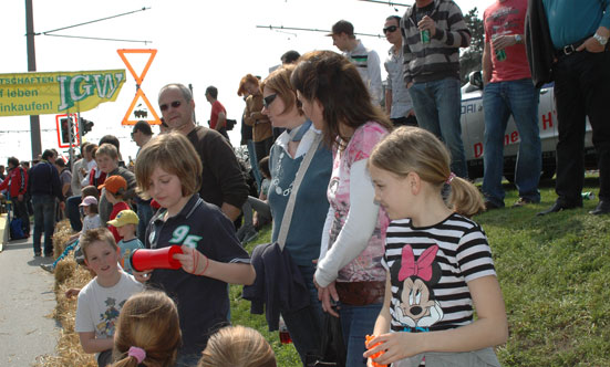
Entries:
{"label": "yellow banner with IGW lettering hanging at the left", "polygon": [[125,70],[0,74],[0,116],[85,112],[114,102]]}

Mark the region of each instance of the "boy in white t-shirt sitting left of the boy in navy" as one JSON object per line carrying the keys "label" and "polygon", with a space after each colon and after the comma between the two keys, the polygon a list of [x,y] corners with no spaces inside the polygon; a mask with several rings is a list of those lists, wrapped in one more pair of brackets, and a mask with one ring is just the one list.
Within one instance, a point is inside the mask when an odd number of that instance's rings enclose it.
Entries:
{"label": "boy in white t-shirt sitting left of the boy in navy", "polygon": [[79,293],[74,331],[79,333],[83,350],[95,353],[97,365],[103,367],[112,360],[118,313],[143,285],[118,268],[118,248],[106,228],[84,233],[81,248],[85,264],[96,276]]}

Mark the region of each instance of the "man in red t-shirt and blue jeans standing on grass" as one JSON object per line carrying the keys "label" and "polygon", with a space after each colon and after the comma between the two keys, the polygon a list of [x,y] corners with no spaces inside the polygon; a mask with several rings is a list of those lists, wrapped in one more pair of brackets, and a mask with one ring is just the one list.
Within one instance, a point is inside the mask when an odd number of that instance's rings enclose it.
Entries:
{"label": "man in red t-shirt and blue jeans standing on grass", "polygon": [[531,81],[524,43],[526,12],[527,0],[496,0],[483,14],[483,193],[487,210],[504,207],[504,135],[510,115],[520,139],[515,167],[519,199],[513,207],[540,201],[539,90]]}

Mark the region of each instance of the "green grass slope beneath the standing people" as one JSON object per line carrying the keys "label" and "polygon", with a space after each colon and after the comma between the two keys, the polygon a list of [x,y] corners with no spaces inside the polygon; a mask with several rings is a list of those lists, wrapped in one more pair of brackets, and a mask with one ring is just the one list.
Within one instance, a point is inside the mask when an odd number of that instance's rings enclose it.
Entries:
{"label": "green grass slope beneath the standing people", "polygon": [[[510,335],[498,358],[503,366],[610,366],[610,216],[588,214],[596,199],[536,217],[554,203],[554,185],[544,182],[542,201],[524,208],[510,208],[518,196],[507,185],[508,208],[474,218],[489,239],[506,303]],[[596,186],[597,177],[589,177],[583,191],[597,195]],[[269,231],[257,243],[269,242]],[[250,315],[240,294],[231,286],[234,324],[261,332],[278,366],[300,366],[293,346],[268,333],[265,316]]]}

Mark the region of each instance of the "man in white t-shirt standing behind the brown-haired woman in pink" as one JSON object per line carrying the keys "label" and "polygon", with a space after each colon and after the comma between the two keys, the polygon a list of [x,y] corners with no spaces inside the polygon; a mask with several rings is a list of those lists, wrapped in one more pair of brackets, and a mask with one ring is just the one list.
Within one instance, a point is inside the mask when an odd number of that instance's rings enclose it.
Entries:
{"label": "man in white t-shirt standing behind the brown-haired woman in pink", "polygon": [[374,50],[366,49],[355,38],[352,23],[340,20],[332,25],[332,44],[343,52],[352,64],[358,69],[364,85],[369,88],[371,101],[374,105],[381,103],[381,67],[379,55]]}

